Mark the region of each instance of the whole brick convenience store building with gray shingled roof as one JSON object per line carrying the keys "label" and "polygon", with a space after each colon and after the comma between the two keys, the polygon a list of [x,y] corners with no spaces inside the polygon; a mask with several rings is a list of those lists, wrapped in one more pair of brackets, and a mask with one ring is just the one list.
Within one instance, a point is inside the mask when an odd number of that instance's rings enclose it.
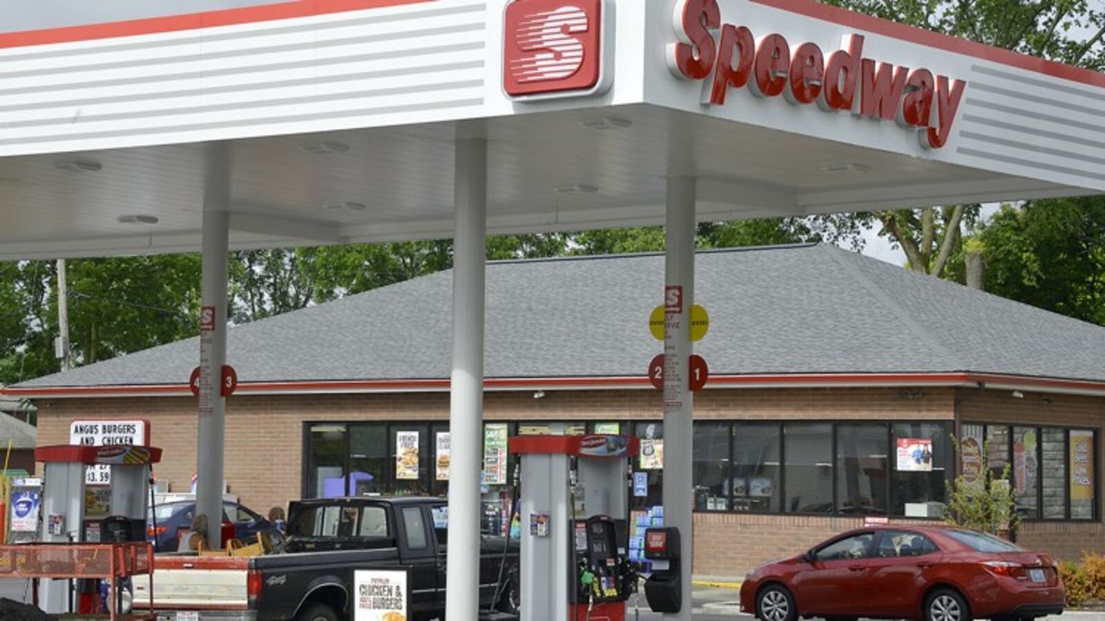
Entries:
{"label": "whole brick convenience store building with gray shingled roof", "polygon": [[[934,519],[955,473],[1010,465],[1020,541],[1060,557],[1105,551],[1101,428],[1105,329],[833,246],[703,252],[696,344],[694,571],[741,576],[865,516]],[[497,524],[507,435],[642,438],[663,484],[660,393],[644,368],[659,255],[508,261],[487,270],[485,482]],[[227,480],[264,512],[302,496],[444,494],[450,274],[230,330],[242,383],[228,401]],[[187,490],[196,339],[8,389],[33,398],[39,442],[74,419],[141,418],[166,449],[157,475]],[[964,439],[961,454],[951,435]],[[446,434],[446,435],[443,435]],[[417,467],[397,445],[419,449]],[[440,463],[441,462],[441,463]],[[966,464],[966,466],[965,466]]]}

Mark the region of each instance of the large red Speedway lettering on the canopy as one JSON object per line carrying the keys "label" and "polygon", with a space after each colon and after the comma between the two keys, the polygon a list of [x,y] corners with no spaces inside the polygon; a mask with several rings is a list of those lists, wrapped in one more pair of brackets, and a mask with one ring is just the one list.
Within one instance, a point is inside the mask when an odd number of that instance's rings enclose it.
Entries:
{"label": "large red Speedway lettering on the canopy", "polygon": [[[723,24],[717,0],[680,0],[673,20],[677,41],[669,46],[676,77],[713,75],[709,103],[724,105],[729,88],[748,86],[760,97],[782,95],[794,105],[817,103],[827,112],[895,120],[916,129],[922,146],[947,144],[967,83],[863,57],[863,35],[851,34],[828,60],[807,42],[790,50],[781,34],[757,40],[744,25]],[[715,40],[713,31],[720,31]],[[934,119],[933,112],[936,112]]]}

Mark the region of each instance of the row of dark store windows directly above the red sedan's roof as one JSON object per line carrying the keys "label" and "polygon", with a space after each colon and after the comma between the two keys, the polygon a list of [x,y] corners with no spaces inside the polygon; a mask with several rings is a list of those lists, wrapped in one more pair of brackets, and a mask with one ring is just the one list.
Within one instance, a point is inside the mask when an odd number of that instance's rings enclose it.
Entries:
{"label": "row of dark store windows directly above the red sedan's roof", "polygon": [[950,433],[950,422],[697,421],[695,508],[937,518]]}

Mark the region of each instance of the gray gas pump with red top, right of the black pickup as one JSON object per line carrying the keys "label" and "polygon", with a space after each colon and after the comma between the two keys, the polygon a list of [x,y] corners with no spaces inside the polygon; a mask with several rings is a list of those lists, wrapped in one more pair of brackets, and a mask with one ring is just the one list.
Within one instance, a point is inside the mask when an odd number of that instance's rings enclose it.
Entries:
{"label": "gray gas pump with red top, right of the black pickup", "polygon": [[624,621],[638,582],[627,544],[639,446],[623,435],[511,439],[522,460],[522,621]]}

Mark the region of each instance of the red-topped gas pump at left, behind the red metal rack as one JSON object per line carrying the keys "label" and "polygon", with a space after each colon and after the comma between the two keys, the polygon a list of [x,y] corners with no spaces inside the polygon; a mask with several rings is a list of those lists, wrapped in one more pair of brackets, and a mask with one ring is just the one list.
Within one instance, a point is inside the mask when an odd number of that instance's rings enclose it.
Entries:
{"label": "red-topped gas pump at left, behind the red metal rack", "polygon": [[[106,464],[112,473],[112,513],[101,526],[114,541],[145,541],[147,485],[150,466],[161,461],[161,450],[152,446],[87,446],[61,444],[34,450],[43,462],[41,540],[80,544],[84,540],[85,466]],[[94,585],[81,589],[78,601],[70,597],[70,580],[44,579],[39,603],[49,613],[87,612],[86,600]]]}

